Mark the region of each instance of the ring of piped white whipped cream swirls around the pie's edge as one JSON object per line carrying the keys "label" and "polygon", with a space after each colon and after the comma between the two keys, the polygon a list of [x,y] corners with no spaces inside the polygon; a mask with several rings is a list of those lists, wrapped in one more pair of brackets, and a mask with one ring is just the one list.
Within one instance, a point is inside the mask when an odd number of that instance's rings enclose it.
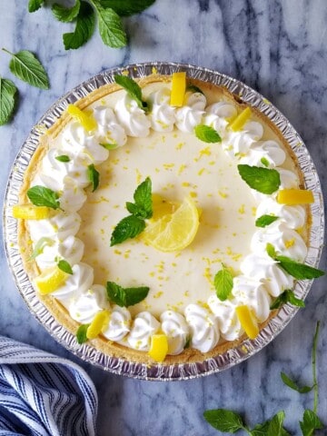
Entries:
{"label": "ring of piped white whipped cream swirls around the pie's edge", "polygon": [[[88,323],[97,312],[108,310],[110,320],[103,335],[106,339],[139,351],[148,351],[151,337],[163,332],[168,338],[168,354],[183,352],[186,344],[200,352],[209,352],[220,342],[233,341],[243,334],[235,308],[248,305],[259,322],[264,322],[270,314],[274,298],[284,290],[292,288],[292,276],[284,272],[266,253],[267,243],[297,262],[302,262],[307,247],[300,233],[306,222],[306,212],[302,206],[277,203],[276,194],[271,195],[253,191],[257,203],[256,217],[273,214],[278,219],[258,229],[252,238],[251,251],[241,263],[241,274],[233,279],[232,296],[222,302],[215,294],[210,296],[207,308],[196,303],[187,305],[184,313],[165,311],[157,320],[150,312],[140,312],[132,319],[128,309],[111,306],[103,285],[94,283],[94,270],[82,263],[84,243],[75,237],[81,224],[79,209],[86,201],[84,188],[90,183],[87,167],[103,163],[110,152],[100,145],[115,144],[122,147],[129,136],[146,137],[151,129],[157,132],[172,132],[174,128],[184,133],[194,134],[198,124],[212,126],[222,137],[222,147],[231,159],[238,163],[275,168],[281,176],[281,188],[299,187],[296,173],[281,167],[286,154],[275,141],[263,141],[263,125],[249,121],[239,132],[228,128],[228,118],[237,113],[233,104],[219,101],[207,105],[206,97],[199,92],[188,92],[181,108],[170,102],[170,85],[164,84],[159,91],[150,95],[151,112],[142,109],[124,92],[114,106],[105,104],[93,108],[97,122],[95,133],[88,133],[77,121],[64,127],[62,141],[50,148],[42,161],[40,171],[31,183],[44,185],[60,193],[61,211],[49,219],[29,221],[28,231],[33,246],[40,238],[51,238],[52,244],[44,247],[43,253],[35,258],[38,268],[55,265],[55,259],[64,258],[73,265],[73,274],[64,285],[52,292],[70,316],[80,323]],[[69,162],[58,162],[55,156],[64,154]],[[292,243],[288,243],[292,241]]]}

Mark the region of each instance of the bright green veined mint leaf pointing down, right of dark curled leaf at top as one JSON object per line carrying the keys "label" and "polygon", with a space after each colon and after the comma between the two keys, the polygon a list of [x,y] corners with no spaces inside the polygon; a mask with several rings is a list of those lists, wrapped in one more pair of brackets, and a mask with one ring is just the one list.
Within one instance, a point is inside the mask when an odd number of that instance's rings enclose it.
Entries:
{"label": "bright green veined mint leaf pointing down, right of dark curled leaf at top", "polygon": [[121,48],[127,44],[122,20],[111,7],[103,7],[99,0],[91,0],[94,5],[99,23],[99,32],[105,45]]}

